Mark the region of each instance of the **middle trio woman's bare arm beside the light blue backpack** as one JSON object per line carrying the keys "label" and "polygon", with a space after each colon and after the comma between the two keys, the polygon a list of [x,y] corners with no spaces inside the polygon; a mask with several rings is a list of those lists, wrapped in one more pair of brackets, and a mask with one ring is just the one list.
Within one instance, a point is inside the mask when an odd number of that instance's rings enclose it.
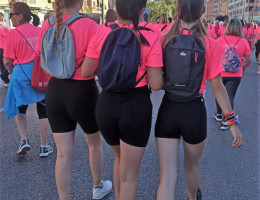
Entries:
{"label": "middle trio woman's bare arm beside the light blue backpack", "polygon": [[85,57],[81,66],[81,75],[84,78],[94,76],[98,66],[98,59]]}

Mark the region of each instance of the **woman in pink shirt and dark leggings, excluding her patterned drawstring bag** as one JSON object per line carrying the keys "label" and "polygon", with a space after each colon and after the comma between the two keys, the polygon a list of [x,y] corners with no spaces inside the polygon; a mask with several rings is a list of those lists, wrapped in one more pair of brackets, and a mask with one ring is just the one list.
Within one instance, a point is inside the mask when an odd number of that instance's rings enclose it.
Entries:
{"label": "woman in pink shirt and dark leggings, excluding her patterned drawstring bag", "polygon": [[[234,47],[240,61],[240,70],[236,72],[226,72],[228,71],[226,70],[225,72],[221,73],[222,81],[226,87],[231,107],[233,109],[235,95],[243,76],[243,72],[251,62],[250,47],[247,39],[244,38],[242,23],[240,20],[236,18],[231,19],[225,31],[225,35],[220,37],[217,41],[220,45],[220,53],[222,56],[224,56],[227,50],[229,50],[231,47]],[[242,57],[245,58],[245,62],[242,62]],[[217,102],[216,105],[217,113],[215,114],[215,119],[217,121],[222,121],[222,110]],[[222,122],[220,128],[225,130],[228,128],[228,126],[225,124],[225,122]]]}

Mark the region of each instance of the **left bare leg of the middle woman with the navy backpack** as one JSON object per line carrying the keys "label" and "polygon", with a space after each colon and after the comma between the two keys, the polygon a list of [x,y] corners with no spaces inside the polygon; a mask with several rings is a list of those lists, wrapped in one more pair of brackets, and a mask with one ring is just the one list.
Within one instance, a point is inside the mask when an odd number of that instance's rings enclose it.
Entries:
{"label": "left bare leg of the middle woman with the navy backpack", "polygon": [[115,190],[116,200],[119,200],[120,196],[120,178],[119,178],[119,166],[120,166],[120,145],[110,146],[112,149],[115,160],[114,160],[114,168],[113,168],[113,184]]}

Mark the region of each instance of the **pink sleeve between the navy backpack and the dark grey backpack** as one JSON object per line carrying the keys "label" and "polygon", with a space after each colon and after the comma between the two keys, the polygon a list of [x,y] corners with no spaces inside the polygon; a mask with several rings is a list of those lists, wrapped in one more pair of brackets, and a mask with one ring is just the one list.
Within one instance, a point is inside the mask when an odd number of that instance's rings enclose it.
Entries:
{"label": "pink sleeve between the navy backpack and the dark grey backpack", "polygon": [[163,67],[162,45],[157,36],[146,61],[147,67]]}

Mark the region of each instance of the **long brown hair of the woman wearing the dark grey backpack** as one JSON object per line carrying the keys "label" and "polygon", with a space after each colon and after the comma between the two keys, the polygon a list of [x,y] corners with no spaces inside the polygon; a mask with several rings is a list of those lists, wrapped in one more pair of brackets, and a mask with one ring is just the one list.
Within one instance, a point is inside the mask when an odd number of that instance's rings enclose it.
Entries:
{"label": "long brown hair of the woman wearing the dark grey backpack", "polygon": [[199,31],[202,43],[205,47],[205,38],[207,31],[202,25],[200,17],[204,7],[204,0],[177,0],[176,6],[176,21],[168,33],[164,37],[163,48],[166,47],[168,42],[175,36],[180,34],[181,20],[186,23],[197,22],[190,31]]}

